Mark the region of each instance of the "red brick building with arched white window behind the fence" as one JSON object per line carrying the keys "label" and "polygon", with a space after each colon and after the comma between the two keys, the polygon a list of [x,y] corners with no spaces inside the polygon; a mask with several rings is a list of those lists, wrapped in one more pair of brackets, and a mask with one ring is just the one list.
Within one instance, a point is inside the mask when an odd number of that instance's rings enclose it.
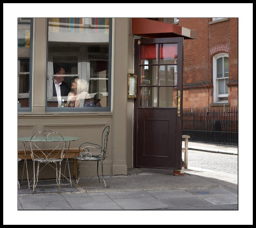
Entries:
{"label": "red brick building with arched white window behind the fence", "polygon": [[179,18],[197,31],[184,40],[183,107],[237,106],[238,19]]}

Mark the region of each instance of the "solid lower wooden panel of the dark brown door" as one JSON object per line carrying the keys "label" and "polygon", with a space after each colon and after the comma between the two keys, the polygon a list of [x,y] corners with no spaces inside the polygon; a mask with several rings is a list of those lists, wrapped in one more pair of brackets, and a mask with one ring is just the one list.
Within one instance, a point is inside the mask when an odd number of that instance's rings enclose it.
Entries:
{"label": "solid lower wooden panel of the dark brown door", "polygon": [[174,169],[176,109],[138,109],[138,167]]}

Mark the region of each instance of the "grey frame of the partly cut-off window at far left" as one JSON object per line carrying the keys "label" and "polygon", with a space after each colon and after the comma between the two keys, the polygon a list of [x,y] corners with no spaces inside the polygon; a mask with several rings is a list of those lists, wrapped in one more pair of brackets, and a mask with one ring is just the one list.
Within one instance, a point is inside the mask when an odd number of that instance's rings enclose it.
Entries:
{"label": "grey frame of the partly cut-off window at far left", "polygon": [[[29,99],[29,106],[28,107],[18,107],[18,112],[31,112],[32,111],[32,75],[33,75],[33,25],[34,21],[33,18],[30,17],[22,17],[21,19],[24,20],[30,20],[29,22],[23,22],[22,24],[30,24],[30,47],[29,47],[29,93],[19,93],[19,75],[20,75],[20,60],[19,56],[17,56],[17,77],[18,77],[18,82],[17,82],[17,98],[27,98]],[[17,22],[17,29],[18,29],[18,24]],[[26,72],[28,73],[28,72]]]}

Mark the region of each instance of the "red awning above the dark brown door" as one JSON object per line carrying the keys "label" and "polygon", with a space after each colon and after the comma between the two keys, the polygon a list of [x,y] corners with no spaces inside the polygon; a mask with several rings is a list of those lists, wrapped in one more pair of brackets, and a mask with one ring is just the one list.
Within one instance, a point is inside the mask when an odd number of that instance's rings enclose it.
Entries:
{"label": "red awning above the dark brown door", "polygon": [[133,18],[132,34],[147,38],[184,37],[196,39],[197,32],[175,24],[159,22],[157,20]]}

